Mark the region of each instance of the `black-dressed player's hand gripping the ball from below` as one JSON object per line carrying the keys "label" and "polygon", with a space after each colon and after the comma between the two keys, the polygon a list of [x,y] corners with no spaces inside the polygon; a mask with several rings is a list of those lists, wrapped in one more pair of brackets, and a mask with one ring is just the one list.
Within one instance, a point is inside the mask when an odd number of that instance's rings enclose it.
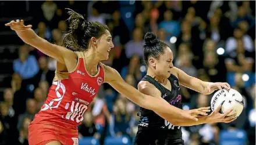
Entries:
{"label": "black-dressed player's hand gripping the ball from below", "polygon": [[220,105],[214,112],[212,112],[210,115],[208,115],[208,123],[216,123],[216,122],[225,122],[229,123],[234,121],[237,117],[236,114],[233,114],[231,116],[227,116],[227,114],[231,113],[233,109],[230,109],[229,111],[226,111],[226,113],[221,114],[219,113],[219,110],[221,110],[222,105]]}

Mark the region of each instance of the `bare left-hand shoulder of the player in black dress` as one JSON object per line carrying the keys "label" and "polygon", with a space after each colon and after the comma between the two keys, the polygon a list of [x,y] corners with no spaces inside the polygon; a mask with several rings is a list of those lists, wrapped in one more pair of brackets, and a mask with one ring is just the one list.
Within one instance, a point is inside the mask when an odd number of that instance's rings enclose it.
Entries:
{"label": "bare left-hand shoulder of the player in black dress", "polygon": [[154,97],[159,97],[161,96],[161,92],[155,88],[153,84],[151,84],[148,81],[140,81],[138,83],[138,91],[141,93],[144,93],[145,95],[150,95]]}

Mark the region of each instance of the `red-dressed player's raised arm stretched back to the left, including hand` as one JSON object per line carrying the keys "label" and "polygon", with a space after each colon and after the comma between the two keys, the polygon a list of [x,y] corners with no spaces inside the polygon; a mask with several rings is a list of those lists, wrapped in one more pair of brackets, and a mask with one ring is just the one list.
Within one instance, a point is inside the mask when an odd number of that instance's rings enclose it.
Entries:
{"label": "red-dressed player's raised arm stretched back to the left, including hand", "polygon": [[34,46],[45,55],[51,56],[62,64],[65,64],[65,57],[72,57],[76,60],[77,55],[72,50],[64,48],[62,46],[51,44],[50,42],[42,39],[34,30],[31,29],[31,25],[25,26],[23,20],[12,20],[10,23],[5,24],[9,26],[26,44]]}

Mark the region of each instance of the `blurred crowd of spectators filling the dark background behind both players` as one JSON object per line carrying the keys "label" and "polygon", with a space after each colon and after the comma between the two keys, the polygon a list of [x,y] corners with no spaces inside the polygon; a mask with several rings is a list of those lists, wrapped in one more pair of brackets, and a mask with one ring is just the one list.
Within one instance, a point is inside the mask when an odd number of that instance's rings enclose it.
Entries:
{"label": "blurred crowd of spectators filling the dark background behind both players", "polygon": [[[255,144],[255,1],[31,1],[25,11],[41,38],[61,45],[68,30],[65,8],[109,27],[115,48],[102,63],[135,88],[147,73],[143,37],[152,31],[170,46],[176,67],[203,81],[228,82],[243,95],[244,110],[236,121],[184,127],[186,144],[218,144],[222,129],[244,129]],[[12,79],[0,97],[0,144],[28,144],[28,126],[47,97],[56,60],[26,44],[12,57]],[[212,95],[181,91],[184,109],[209,106]],[[104,84],[84,114],[79,137],[133,140],[138,109]]]}

